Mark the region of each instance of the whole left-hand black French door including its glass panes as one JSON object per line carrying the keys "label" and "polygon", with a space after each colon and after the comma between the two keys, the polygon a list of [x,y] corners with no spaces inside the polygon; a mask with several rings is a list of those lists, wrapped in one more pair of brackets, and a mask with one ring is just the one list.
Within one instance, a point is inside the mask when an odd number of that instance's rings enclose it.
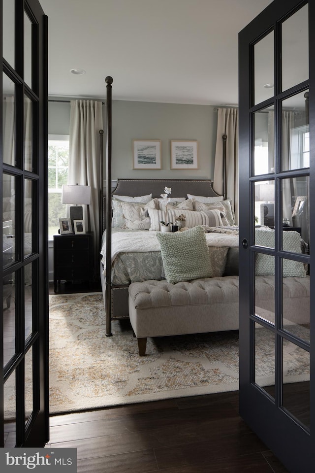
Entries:
{"label": "whole left-hand black French door including its glass panes", "polygon": [[44,446],[48,415],[47,17],[0,0],[0,446]]}

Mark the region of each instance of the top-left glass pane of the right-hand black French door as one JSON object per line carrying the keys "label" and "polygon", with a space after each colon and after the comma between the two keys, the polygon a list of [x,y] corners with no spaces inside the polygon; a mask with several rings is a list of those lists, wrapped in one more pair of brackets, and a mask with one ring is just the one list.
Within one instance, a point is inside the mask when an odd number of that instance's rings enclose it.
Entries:
{"label": "top-left glass pane of the right-hand black French door", "polygon": [[255,104],[274,95],[274,32],[254,45],[254,100]]}

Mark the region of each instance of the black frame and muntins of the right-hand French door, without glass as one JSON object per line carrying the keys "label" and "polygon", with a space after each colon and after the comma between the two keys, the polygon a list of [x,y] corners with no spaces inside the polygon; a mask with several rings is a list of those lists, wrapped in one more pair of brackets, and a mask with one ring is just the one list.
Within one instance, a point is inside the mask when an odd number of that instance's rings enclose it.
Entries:
{"label": "black frame and muntins of the right-hand French door, without glass", "polygon": [[[239,34],[239,189],[240,189],[240,415],[250,425],[252,430],[264,441],[282,461],[282,463],[291,472],[307,472],[312,471],[315,465],[315,444],[310,433],[306,432],[300,425],[294,423],[292,419],[279,408],[279,389],[275,404],[269,402],[267,397],[251,384],[253,366],[250,357],[252,352],[252,337],[251,337],[251,307],[252,307],[252,291],[248,284],[249,275],[253,273],[253,261],[251,258],[251,241],[253,241],[253,226],[252,226],[252,201],[251,196],[251,137],[253,134],[253,125],[251,115],[255,109],[261,109],[264,106],[270,105],[270,101],[259,103],[257,107],[253,106],[253,45],[261,39],[266,32],[274,29],[277,40],[280,38],[280,31],[278,25],[280,20],[284,20],[290,12],[299,9],[304,4],[309,4],[309,54],[310,58],[315,51],[315,1],[299,1],[299,0],[275,0],[265,10],[263,10],[242,32]],[[277,41],[276,41],[277,44]],[[275,96],[277,101],[275,103],[275,116],[277,113],[277,104],[280,99],[284,99],[287,95],[292,95],[294,92],[303,90],[309,84],[310,90],[310,203],[315,203],[313,190],[315,189],[315,95],[312,91],[315,90],[315,61],[309,61],[309,81],[293,87],[290,91],[284,94],[280,93],[281,77],[280,74],[280,54],[278,46],[275,48]],[[279,108],[278,108],[279,113]],[[279,116],[279,115],[278,115]],[[275,141],[277,135],[275,136]],[[279,140],[279,136],[278,136]],[[279,154],[279,146],[277,148]],[[276,168],[276,167],[275,167]],[[277,180],[275,172],[275,181]],[[270,175],[269,175],[270,176]],[[284,173],[282,174],[284,176]],[[257,176],[260,180],[262,176]],[[268,178],[267,178],[268,179]],[[280,197],[280,194],[278,193]],[[251,201],[250,205],[249,202]],[[310,219],[310,235],[314,234],[315,223],[312,219],[312,205],[310,205],[311,219]],[[280,215],[279,215],[280,216]],[[275,220],[277,221],[278,212],[275,205]],[[279,226],[280,229],[280,226]],[[243,239],[248,240],[249,248],[242,247]],[[311,251],[312,253],[312,251]],[[311,259],[309,259],[310,261]],[[252,279],[251,279],[252,280]],[[314,294],[315,284],[311,277],[311,346],[315,346],[315,323],[314,323]],[[314,372],[315,355],[310,352],[311,373]],[[315,377],[311,376],[310,391],[314,393]],[[314,398],[314,396],[313,396]],[[315,407],[313,402],[313,407]],[[315,408],[311,405],[311,429],[315,426]],[[313,448],[312,448],[313,446]]]}

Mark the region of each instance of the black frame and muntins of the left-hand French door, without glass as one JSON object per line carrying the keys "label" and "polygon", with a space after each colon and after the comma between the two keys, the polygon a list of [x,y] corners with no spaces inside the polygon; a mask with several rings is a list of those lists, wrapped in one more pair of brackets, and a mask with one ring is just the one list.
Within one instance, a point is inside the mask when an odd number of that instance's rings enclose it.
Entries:
{"label": "black frame and muntins of the left-hand French door, without glass", "polygon": [[[12,0],[13,2],[14,0]],[[14,67],[2,59],[2,71],[16,84],[15,102],[15,148],[16,168],[3,164],[2,145],[0,154],[1,170],[16,175],[21,189],[16,189],[16,229],[24,233],[24,180],[32,181],[32,253],[24,260],[23,243],[17,239],[20,257],[5,271],[16,271],[16,291],[18,308],[16,309],[16,355],[3,368],[3,312],[1,313],[0,354],[0,445],[4,445],[4,407],[3,390],[5,381],[11,373],[16,372],[16,432],[15,446],[44,446],[49,440],[49,380],[48,380],[48,197],[47,197],[47,143],[48,143],[48,18],[38,0],[15,0],[15,64]],[[24,82],[24,15],[27,13],[32,23],[32,88]],[[2,0],[0,0],[2,32]],[[2,51],[2,33],[1,33]],[[0,87],[3,90],[2,74]],[[2,92],[1,92],[2,94]],[[24,169],[24,97],[32,101],[32,170]],[[22,132],[21,132],[22,131]],[[0,113],[0,136],[2,142],[2,100]],[[1,173],[2,174],[2,173]],[[2,175],[0,181],[2,194]],[[2,201],[2,200],[1,200]],[[0,204],[2,219],[2,202]],[[23,235],[22,233],[22,235]],[[0,236],[2,240],[2,234]],[[22,240],[21,240],[22,241]],[[32,263],[32,334],[24,340],[24,265]],[[3,304],[3,263],[0,278],[0,303]],[[19,326],[21,325],[21,326]],[[32,405],[33,410],[25,423],[25,370],[26,352],[32,350]]]}

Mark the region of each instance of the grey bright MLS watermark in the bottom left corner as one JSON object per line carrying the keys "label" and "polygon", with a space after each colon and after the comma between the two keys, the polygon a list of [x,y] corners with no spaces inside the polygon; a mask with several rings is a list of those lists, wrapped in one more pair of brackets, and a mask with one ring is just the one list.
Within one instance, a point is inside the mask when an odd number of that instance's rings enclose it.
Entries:
{"label": "grey bright MLS watermark in the bottom left corner", "polygon": [[76,473],[76,448],[0,448],[1,472]]}

